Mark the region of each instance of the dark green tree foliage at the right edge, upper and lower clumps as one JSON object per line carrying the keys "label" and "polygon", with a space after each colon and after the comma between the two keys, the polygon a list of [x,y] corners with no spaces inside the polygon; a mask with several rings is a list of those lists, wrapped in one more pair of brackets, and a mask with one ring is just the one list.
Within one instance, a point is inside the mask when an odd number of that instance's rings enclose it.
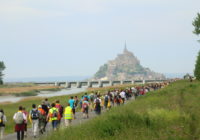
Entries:
{"label": "dark green tree foliage at the right edge, upper and lower clumps", "polygon": [[[200,34],[200,14],[197,13],[197,17],[193,21],[194,31],[193,33],[196,35]],[[200,40],[199,40],[200,41]],[[200,51],[197,56],[195,70],[194,70],[194,76],[197,80],[200,80]]]}

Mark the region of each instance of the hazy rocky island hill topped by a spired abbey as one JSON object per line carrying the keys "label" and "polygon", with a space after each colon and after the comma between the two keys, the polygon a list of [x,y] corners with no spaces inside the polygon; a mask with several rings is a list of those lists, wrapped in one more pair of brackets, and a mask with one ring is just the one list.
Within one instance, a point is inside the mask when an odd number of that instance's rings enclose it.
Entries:
{"label": "hazy rocky island hill topped by a spired abbey", "polygon": [[126,48],[115,60],[108,61],[99,68],[93,80],[142,80],[142,79],[165,79],[160,73],[144,68],[140,61]]}

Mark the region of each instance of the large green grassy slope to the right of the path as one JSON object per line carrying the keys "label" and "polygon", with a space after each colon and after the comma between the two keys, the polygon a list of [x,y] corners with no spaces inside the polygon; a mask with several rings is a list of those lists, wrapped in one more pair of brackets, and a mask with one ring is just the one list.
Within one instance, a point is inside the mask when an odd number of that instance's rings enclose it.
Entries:
{"label": "large green grassy slope to the right of the path", "polygon": [[200,139],[200,82],[177,81],[47,140]]}

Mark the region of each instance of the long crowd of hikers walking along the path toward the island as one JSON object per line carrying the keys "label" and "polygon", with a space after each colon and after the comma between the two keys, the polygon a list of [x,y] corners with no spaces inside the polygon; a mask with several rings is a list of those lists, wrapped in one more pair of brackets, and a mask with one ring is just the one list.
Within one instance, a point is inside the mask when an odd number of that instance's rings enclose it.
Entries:
{"label": "long crowd of hikers walking along the path toward the island", "polygon": [[[36,138],[39,134],[46,131],[46,126],[50,122],[53,130],[62,126],[68,127],[72,120],[77,119],[76,111],[81,110],[83,118],[89,118],[89,112],[94,111],[97,115],[101,111],[109,110],[111,107],[123,105],[127,100],[137,98],[147,94],[149,91],[165,87],[168,83],[148,84],[146,86],[128,87],[115,89],[106,93],[90,92],[85,93],[81,98],[71,96],[66,100],[66,107],[60,104],[59,100],[49,103],[48,98],[43,100],[40,105],[32,104],[32,109],[27,112],[26,108],[19,106],[18,111],[14,114],[15,132],[17,140],[23,140],[27,137],[28,120],[32,125],[32,135]],[[62,121],[64,120],[64,121]],[[5,129],[6,115],[0,110],[0,139],[3,139]]]}

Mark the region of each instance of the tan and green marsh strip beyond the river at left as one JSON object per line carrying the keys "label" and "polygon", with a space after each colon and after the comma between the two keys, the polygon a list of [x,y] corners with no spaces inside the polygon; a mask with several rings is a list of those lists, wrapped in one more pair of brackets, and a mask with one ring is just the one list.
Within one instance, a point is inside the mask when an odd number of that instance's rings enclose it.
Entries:
{"label": "tan and green marsh strip beyond the river at left", "polygon": [[39,91],[58,91],[58,86],[38,86],[32,83],[1,85],[0,96],[14,95],[14,96],[36,96]]}

